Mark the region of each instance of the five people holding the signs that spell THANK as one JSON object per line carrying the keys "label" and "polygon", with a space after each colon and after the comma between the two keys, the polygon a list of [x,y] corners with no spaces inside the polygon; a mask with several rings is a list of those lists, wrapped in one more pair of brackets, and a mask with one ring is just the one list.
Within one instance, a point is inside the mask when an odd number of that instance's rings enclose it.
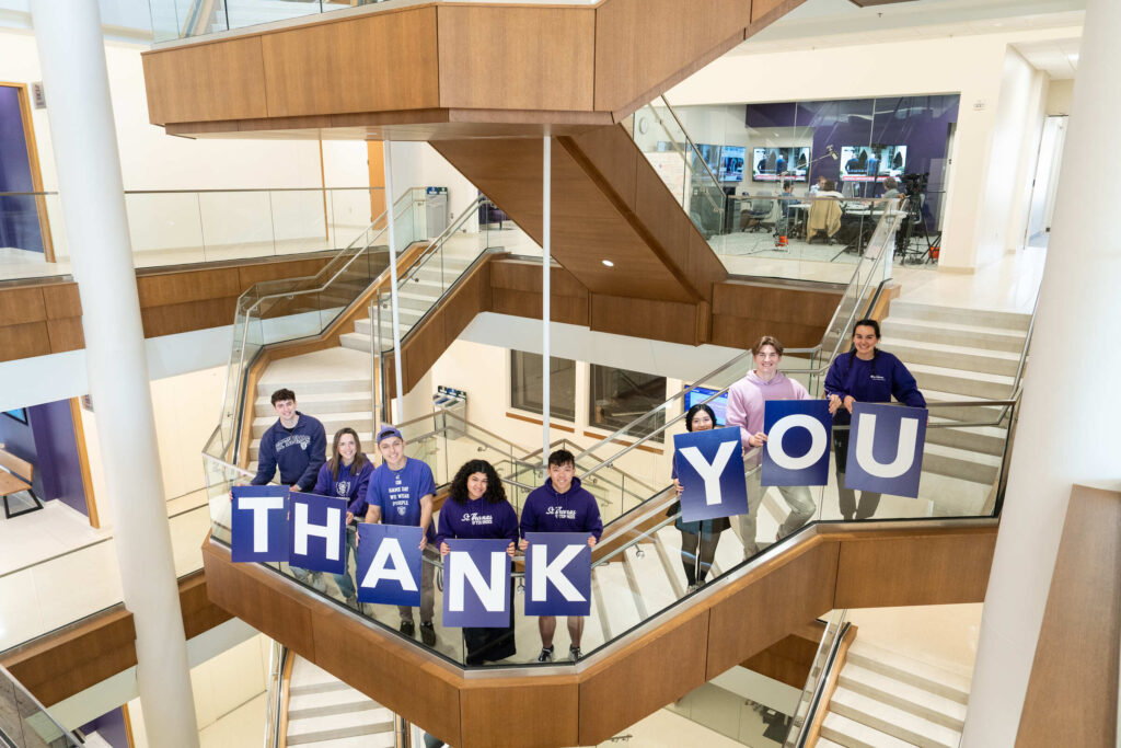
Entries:
{"label": "five people holding the signs that spell THANK", "polygon": [[[348,500],[345,572],[333,574],[346,604],[358,609],[358,590],[351,575],[358,539],[358,523],[381,523],[420,527],[420,550],[426,556],[420,575],[420,639],[435,646],[436,629],[434,569],[439,556],[448,553],[447,541],[458,538],[508,539],[507,553],[525,551],[528,533],[586,533],[589,546],[595,546],[603,533],[603,520],[595,498],[580,484],[575,475],[575,459],[567,450],[557,450],[548,458],[548,479],[526,498],[519,519],[506,497],[502,481],[485,460],[470,460],[455,473],[446,502],[438,518],[433,518],[436,481],[432,469],[421,460],[405,454],[405,437],[396,426],[382,426],[376,442],[382,462],[377,468],[362,452],[353,428],[340,428],[326,459],[326,433],[316,418],[296,409],[296,394],[290,389],[272,393],[277,422],[261,437],[257,474],[251,483],[272,481],[277,469],[280,483],[293,491],[309,491]],[[296,566],[294,576],[326,592],[323,574]],[[512,588],[511,588],[512,589]],[[513,609],[511,604],[511,611]],[[413,608],[401,606],[400,631],[416,634]],[[572,659],[582,655],[583,617],[568,618]],[[556,618],[538,618],[541,652],[538,662],[554,658]],[[503,628],[464,628],[466,664],[481,665],[515,654],[511,624]]]}

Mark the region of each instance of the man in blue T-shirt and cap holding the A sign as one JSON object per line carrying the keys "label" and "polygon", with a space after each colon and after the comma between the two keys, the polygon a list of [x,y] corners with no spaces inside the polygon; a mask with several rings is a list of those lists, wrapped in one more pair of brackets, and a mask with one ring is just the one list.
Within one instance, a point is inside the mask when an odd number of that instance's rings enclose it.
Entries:
{"label": "man in blue T-shirt and cap holding the A sign", "polygon": [[[396,427],[381,427],[378,451],[381,452],[382,463],[370,475],[365,520],[424,530],[419,547],[428,558],[421,564],[420,574],[420,639],[430,647],[436,644],[436,629],[432,625],[432,615],[436,609],[432,563],[436,560],[436,533],[432,523],[436,481],[427,463],[405,456],[405,437]],[[401,615],[401,634],[413,636],[416,631],[413,608],[399,606],[397,610]]]}

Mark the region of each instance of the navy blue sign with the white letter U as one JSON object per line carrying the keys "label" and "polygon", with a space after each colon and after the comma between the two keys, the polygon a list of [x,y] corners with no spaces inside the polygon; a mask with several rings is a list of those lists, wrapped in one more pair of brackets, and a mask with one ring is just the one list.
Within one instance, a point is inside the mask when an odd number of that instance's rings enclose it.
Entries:
{"label": "navy blue sign with the white letter U", "polygon": [[853,404],[845,488],[918,498],[926,418],[926,408]]}

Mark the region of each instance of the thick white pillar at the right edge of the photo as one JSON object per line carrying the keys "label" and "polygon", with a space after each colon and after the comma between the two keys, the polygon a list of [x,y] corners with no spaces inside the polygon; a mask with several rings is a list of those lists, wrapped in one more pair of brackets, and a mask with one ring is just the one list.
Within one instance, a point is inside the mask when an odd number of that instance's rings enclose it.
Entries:
{"label": "thick white pillar at the right edge of the photo", "polygon": [[1091,175],[1121,121],[1121,3],[1090,0],[1016,451],[962,745],[1016,740],[1074,483],[1119,484],[1121,249]]}

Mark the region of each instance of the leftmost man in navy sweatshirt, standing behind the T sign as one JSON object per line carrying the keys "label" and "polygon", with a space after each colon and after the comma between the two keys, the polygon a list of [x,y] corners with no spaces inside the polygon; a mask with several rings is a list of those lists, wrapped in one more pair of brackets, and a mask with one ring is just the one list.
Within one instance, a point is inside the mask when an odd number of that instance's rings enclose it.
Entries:
{"label": "leftmost man in navy sweatshirt, standing behind the T sign", "polygon": [[[296,409],[296,394],[287,388],[272,393],[272,409],[277,422],[261,436],[257,455],[257,474],[252,486],[265,486],[272,481],[280,468],[280,484],[293,491],[311,491],[319,468],[327,461],[327,434],[323,424]],[[327,584],[321,572],[309,572],[298,566],[291,567],[299,581],[308,583],[319,592]]]}

